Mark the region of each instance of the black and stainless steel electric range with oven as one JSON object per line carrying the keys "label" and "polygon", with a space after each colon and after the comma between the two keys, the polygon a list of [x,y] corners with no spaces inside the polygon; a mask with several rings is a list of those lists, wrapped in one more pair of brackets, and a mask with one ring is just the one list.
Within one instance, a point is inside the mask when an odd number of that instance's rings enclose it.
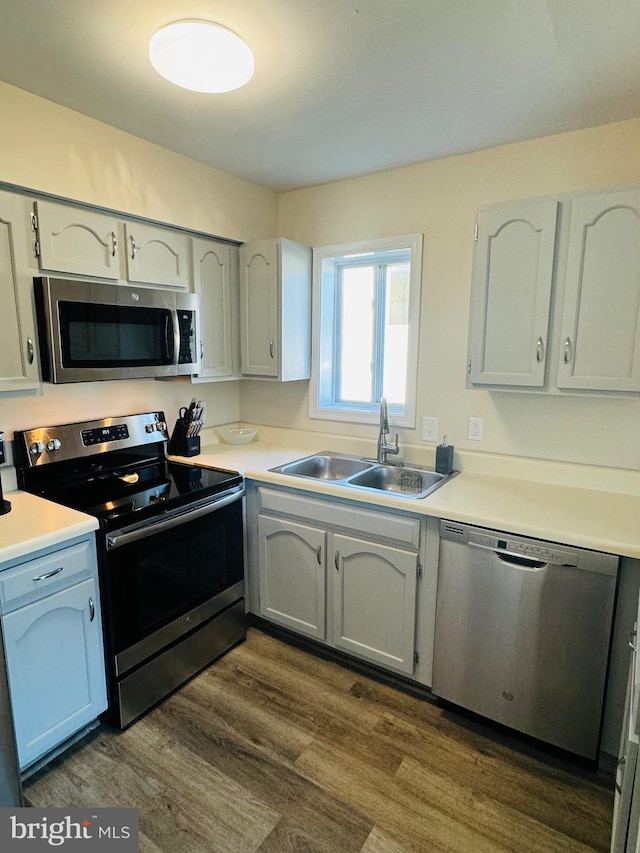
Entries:
{"label": "black and stainless steel electric range with oven", "polygon": [[163,412],[15,433],[20,488],[93,515],[124,728],[244,639],[243,480],[169,461]]}

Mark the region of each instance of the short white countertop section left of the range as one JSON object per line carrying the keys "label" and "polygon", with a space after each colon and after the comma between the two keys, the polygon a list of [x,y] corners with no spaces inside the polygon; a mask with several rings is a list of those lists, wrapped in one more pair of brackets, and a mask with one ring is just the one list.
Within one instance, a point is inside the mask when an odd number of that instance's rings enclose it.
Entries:
{"label": "short white countertop section left of the range", "polygon": [[5,492],[11,512],[0,515],[0,563],[59,545],[97,530],[98,521],[83,512],[27,492]]}

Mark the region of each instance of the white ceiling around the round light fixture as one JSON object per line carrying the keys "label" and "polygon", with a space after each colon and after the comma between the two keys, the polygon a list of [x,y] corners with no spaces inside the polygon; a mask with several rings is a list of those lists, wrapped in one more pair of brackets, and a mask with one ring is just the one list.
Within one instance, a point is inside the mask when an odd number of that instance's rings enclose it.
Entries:
{"label": "white ceiling around the round light fixture", "polygon": [[[158,77],[180,18],[242,36],[249,85]],[[640,0],[0,0],[0,79],[285,190],[640,115]]]}

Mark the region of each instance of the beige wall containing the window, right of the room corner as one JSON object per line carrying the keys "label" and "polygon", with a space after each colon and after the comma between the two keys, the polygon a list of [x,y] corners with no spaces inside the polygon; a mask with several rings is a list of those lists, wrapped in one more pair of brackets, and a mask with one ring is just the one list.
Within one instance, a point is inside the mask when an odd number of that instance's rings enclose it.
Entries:
{"label": "beige wall containing the window, right of the room corner", "polygon": [[[459,448],[640,468],[640,399],[465,389],[476,211],[486,204],[640,183],[640,120],[509,145],[280,196],[280,234],[314,246],[424,234],[418,424]],[[308,417],[307,383],[243,383],[247,421],[370,435]],[[469,442],[467,420],[484,418]],[[419,431],[401,431],[419,442]],[[320,444],[322,442],[320,441]]]}

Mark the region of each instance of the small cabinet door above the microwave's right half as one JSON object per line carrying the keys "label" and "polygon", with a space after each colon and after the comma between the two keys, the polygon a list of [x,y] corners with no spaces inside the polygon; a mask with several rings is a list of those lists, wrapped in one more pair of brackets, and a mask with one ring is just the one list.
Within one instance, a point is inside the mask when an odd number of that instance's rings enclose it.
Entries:
{"label": "small cabinet door above the microwave's right half", "polygon": [[159,225],[125,222],[127,280],[189,287],[189,238]]}

